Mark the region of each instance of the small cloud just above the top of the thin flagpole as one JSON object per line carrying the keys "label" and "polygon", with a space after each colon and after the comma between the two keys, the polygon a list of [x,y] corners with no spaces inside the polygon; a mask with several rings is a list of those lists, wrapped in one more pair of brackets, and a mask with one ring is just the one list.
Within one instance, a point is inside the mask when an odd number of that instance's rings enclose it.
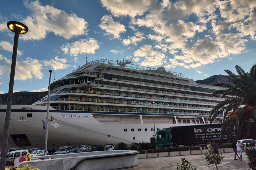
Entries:
{"label": "small cloud just above the top of the thin flagpole", "polygon": [[52,60],[43,60],[43,63],[45,66],[50,66],[52,69],[56,70],[60,70],[60,69],[66,69],[69,66],[71,66],[70,64],[65,64],[67,62],[66,58],[58,58],[58,56],[56,56],[54,59]]}

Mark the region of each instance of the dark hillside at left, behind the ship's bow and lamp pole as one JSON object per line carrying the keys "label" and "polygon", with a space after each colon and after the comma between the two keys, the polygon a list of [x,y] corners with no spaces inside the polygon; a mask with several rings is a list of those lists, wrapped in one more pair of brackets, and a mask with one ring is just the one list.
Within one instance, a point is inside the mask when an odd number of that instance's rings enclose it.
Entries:
{"label": "dark hillside at left, behind the ship's bow and lamp pole", "polygon": [[[44,96],[48,95],[46,92],[15,92],[12,95],[13,105],[32,105]],[[0,105],[7,104],[8,93],[0,94]]]}

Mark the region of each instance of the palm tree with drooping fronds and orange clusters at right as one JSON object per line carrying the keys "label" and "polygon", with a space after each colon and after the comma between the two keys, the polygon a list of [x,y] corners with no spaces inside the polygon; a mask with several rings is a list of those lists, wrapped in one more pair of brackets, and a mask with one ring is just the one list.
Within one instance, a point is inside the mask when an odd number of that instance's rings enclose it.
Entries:
{"label": "palm tree with drooping fronds and orange clusters at right", "polygon": [[256,64],[250,72],[245,72],[240,66],[235,66],[238,76],[230,70],[225,70],[229,76],[226,78],[233,81],[233,84],[217,83],[214,86],[221,87],[213,93],[213,96],[221,95],[225,98],[216,105],[210,112],[212,123],[218,115],[224,113],[222,125],[223,133],[231,133],[236,128],[237,135],[240,135],[241,128],[245,125],[249,135],[252,124],[256,127]]}

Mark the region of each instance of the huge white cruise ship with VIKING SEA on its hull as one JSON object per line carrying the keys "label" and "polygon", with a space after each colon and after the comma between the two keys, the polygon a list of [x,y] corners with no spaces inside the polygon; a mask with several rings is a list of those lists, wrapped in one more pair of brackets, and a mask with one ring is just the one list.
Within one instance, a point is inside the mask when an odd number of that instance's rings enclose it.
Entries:
{"label": "huge white cruise ship with VIKING SEA on its hull", "polygon": [[[222,101],[212,96],[218,87],[132,63],[95,60],[51,83],[48,119],[59,127],[48,126],[48,147],[150,142],[158,129],[209,123]],[[8,148],[44,147],[47,103],[48,95],[32,105],[12,105]],[[0,105],[0,148],[5,113]],[[219,115],[214,123],[222,120]]]}

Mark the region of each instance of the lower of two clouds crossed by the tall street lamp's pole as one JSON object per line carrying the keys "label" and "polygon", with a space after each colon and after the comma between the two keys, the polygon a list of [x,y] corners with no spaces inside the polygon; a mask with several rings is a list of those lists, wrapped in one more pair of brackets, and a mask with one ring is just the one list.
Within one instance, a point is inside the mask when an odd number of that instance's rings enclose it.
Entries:
{"label": "lower of two clouds crossed by the tall street lamp's pole", "polygon": [[[11,60],[8,60],[6,57],[0,55],[0,75],[9,74],[11,71]],[[15,68],[15,80],[26,80],[32,78],[42,79],[43,65],[37,59],[32,59],[27,57],[26,60],[16,61]]]}

